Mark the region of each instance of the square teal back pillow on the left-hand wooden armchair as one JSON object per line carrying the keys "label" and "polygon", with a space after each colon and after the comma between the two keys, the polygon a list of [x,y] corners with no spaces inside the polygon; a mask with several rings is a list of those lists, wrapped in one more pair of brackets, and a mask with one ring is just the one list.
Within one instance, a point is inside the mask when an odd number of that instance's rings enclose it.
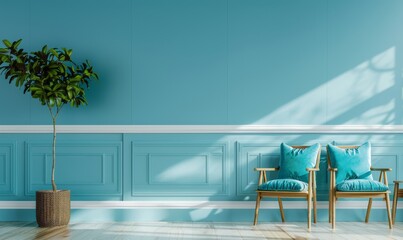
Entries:
{"label": "square teal back pillow on the left-hand wooden armchair", "polygon": [[316,166],[320,144],[316,143],[308,148],[300,149],[282,143],[280,151],[280,171],[278,178],[291,178],[308,182],[308,171],[306,169]]}

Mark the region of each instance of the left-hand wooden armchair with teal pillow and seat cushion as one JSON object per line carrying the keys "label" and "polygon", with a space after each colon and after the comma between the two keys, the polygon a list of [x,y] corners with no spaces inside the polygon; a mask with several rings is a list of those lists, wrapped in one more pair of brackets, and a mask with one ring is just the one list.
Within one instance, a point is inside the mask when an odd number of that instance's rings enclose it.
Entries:
{"label": "left-hand wooden armchair with teal pillow and seat cushion", "polygon": [[[255,168],[259,172],[256,191],[256,208],[253,224],[257,224],[260,201],[263,197],[275,197],[278,200],[281,220],[284,222],[281,198],[304,198],[308,202],[308,229],[311,229],[312,201],[314,222],[316,223],[316,177],[319,171],[320,144],[312,146],[288,146],[281,144],[280,164],[277,168]],[[278,178],[267,179],[266,172],[279,171]]]}

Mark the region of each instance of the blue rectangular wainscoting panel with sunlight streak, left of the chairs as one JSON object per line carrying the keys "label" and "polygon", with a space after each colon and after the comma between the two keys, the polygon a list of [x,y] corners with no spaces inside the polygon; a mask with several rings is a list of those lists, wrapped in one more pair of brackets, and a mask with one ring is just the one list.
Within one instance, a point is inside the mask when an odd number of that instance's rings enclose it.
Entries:
{"label": "blue rectangular wainscoting panel with sunlight streak, left of the chairs", "polygon": [[227,145],[132,143],[132,197],[229,194]]}

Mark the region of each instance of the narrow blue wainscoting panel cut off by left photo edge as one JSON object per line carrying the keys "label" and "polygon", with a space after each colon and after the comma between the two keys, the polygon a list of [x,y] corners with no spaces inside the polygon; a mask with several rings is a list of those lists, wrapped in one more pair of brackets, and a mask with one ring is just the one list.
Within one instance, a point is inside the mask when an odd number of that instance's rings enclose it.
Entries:
{"label": "narrow blue wainscoting panel cut off by left photo edge", "polygon": [[16,145],[0,142],[0,195],[15,196],[16,189]]}

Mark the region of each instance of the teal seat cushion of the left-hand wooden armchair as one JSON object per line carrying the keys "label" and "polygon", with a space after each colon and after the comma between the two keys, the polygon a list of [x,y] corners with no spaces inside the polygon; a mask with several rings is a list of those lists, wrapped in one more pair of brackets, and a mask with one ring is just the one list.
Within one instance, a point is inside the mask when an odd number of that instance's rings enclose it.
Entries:
{"label": "teal seat cushion of the left-hand wooden armchair", "polygon": [[308,190],[308,184],[294,179],[275,179],[260,184],[257,189],[265,191],[303,192]]}

